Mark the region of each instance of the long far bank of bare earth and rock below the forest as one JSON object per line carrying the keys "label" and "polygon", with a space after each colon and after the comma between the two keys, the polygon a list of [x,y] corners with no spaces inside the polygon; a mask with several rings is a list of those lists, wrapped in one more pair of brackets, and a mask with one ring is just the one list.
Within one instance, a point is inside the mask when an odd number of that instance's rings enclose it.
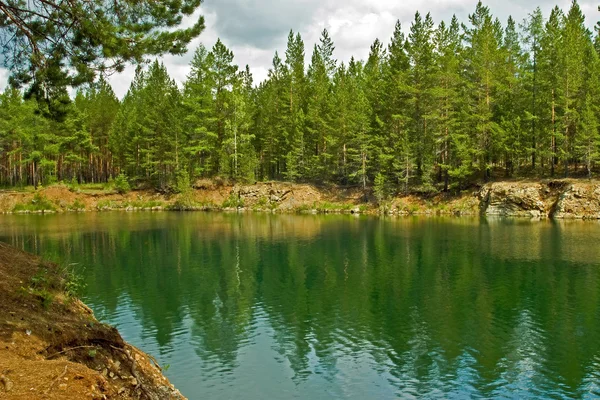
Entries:
{"label": "long far bank of bare earth and rock below the forest", "polygon": [[600,181],[552,179],[500,181],[460,193],[415,193],[377,201],[360,187],[285,182],[228,185],[198,181],[185,194],[53,185],[38,191],[0,191],[0,212],[259,211],[390,215],[487,215],[600,219]]}

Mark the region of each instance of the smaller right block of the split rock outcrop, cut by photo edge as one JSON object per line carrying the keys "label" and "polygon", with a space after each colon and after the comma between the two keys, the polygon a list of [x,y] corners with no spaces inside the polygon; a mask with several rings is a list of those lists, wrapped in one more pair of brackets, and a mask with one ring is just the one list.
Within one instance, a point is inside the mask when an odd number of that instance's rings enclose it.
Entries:
{"label": "smaller right block of the split rock outcrop, cut by photo edge", "polygon": [[558,196],[554,218],[600,219],[600,184],[574,183]]}

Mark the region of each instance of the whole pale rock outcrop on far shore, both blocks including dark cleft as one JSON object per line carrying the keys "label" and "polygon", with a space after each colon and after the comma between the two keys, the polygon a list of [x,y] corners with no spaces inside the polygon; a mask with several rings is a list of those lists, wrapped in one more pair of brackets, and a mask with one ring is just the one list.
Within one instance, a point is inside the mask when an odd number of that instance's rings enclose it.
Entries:
{"label": "whole pale rock outcrop on far shore, both blocks including dark cleft", "polygon": [[479,192],[482,215],[600,219],[600,184],[566,180],[498,182]]}

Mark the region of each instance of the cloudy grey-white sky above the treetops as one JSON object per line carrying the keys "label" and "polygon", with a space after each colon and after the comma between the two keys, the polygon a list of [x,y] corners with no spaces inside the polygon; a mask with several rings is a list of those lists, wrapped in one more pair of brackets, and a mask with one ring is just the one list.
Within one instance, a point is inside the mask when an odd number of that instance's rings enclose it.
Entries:
{"label": "cloudy grey-white sky above the treetops", "polygon": [[[571,0],[490,0],[484,4],[505,24],[509,15],[521,22],[538,6],[545,17],[555,5],[567,12]],[[590,29],[600,20],[598,4],[598,0],[579,0]],[[250,66],[256,83],[267,77],[275,51],[284,58],[290,29],[302,35],[307,63],[324,28],[333,39],[338,61],[347,62],[352,56],[364,60],[376,38],[385,44],[389,42],[397,20],[405,32],[416,11],[431,12],[436,24],[450,20],[453,14],[467,23],[476,5],[477,0],[204,0],[197,13],[183,22],[191,25],[202,14],[206,22],[204,32],[191,42],[184,56],[166,56],[161,60],[171,77],[181,84],[189,73],[196,47],[202,43],[210,49],[221,38],[233,51],[234,62],[240,68]],[[128,67],[110,77],[119,98],[127,92],[133,71],[133,67]],[[7,71],[0,68],[0,87],[6,86],[7,77]]]}

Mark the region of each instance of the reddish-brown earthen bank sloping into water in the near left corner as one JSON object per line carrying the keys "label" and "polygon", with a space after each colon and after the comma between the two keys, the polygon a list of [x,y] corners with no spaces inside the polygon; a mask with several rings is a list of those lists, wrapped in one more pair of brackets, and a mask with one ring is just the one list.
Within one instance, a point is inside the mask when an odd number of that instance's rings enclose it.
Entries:
{"label": "reddish-brown earthen bank sloping into water in the near left corner", "polygon": [[0,398],[184,399],[56,264],[0,243]]}

